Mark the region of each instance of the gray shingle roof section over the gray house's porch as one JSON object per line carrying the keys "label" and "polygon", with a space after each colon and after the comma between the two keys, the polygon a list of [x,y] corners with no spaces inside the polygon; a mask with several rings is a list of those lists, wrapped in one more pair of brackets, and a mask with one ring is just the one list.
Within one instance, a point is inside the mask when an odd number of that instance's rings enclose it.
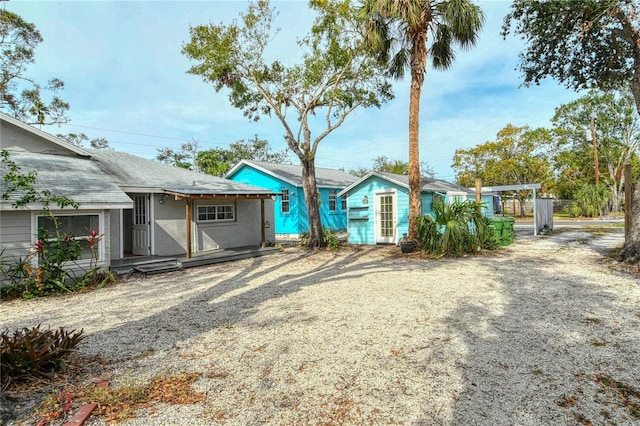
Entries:
{"label": "gray shingle roof section over the gray house's porch", "polygon": [[111,150],[88,150],[92,159],[123,188],[146,188],[149,192],[183,194],[267,194],[271,191],[179,167],[168,166],[136,155]]}

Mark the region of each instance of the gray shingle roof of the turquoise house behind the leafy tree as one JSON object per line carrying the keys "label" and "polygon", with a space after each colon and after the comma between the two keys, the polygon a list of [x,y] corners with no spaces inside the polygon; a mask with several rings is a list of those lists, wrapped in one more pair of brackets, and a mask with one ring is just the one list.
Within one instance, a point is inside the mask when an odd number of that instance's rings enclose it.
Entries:
{"label": "gray shingle roof of the turquoise house behind the leafy tree", "polygon": [[[294,186],[302,187],[302,166],[295,164],[277,164],[277,163],[265,163],[263,161],[248,161],[242,160],[237,164],[234,169],[246,164],[253,166],[263,171],[282,179]],[[229,175],[233,174],[232,169]],[[346,188],[351,185],[358,178],[343,172],[342,170],[328,169],[324,167],[316,167],[316,184],[321,188]]]}

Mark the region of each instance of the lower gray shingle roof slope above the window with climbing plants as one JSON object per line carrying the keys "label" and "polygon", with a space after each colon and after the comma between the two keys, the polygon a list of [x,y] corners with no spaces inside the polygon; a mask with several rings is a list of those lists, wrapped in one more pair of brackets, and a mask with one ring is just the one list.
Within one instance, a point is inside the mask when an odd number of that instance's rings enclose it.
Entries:
{"label": "lower gray shingle roof slope above the window with climbing plants", "polygon": [[[101,170],[95,161],[86,157],[70,157],[65,155],[43,155],[23,151],[10,152],[11,161],[15,162],[22,173],[36,171],[36,189],[51,191],[54,195],[71,198],[80,203],[81,208],[93,205],[131,206],[131,199],[113,182],[109,175]],[[6,184],[0,182],[4,193]],[[14,193],[9,203],[21,194]],[[6,202],[3,203],[6,207]],[[54,207],[54,206],[52,206]]]}

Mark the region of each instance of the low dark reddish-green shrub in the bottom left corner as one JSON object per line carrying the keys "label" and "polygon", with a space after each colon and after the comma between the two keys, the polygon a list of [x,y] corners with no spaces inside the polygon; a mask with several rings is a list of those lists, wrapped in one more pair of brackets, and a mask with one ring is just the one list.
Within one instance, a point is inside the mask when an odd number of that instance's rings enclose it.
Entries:
{"label": "low dark reddish-green shrub in the bottom left corner", "polygon": [[65,358],[84,339],[82,330],[40,330],[40,325],[14,332],[5,330],[0,337],[2,389],[16,381],[51,378],[56,371],[64,371]]}

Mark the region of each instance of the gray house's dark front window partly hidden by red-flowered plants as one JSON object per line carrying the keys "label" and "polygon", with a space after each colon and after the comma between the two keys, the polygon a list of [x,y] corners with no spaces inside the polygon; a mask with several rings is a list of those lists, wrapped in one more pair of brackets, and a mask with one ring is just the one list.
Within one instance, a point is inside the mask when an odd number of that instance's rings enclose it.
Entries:
{"label": "gray house's dark front window partly hidden by red-flowered plants", "polygon": [[[57,229],[56,222],[58,224]],[[79,260],[94,259],[95,255],[98,261],[102,261],[104,260],[102,239],[96,239],[102,233],[100,222],[99,213],[55,215],[55,222],[49,216],[37,216],[36,229],[42,228],[47,231],[50,237],[47,241],[55,240],[58,233],[80,241],[82,251],[80,252]],[[44,241],[44,243],[46,244],[47,241]],[[93,247],[92,241],[94,242]]]}

